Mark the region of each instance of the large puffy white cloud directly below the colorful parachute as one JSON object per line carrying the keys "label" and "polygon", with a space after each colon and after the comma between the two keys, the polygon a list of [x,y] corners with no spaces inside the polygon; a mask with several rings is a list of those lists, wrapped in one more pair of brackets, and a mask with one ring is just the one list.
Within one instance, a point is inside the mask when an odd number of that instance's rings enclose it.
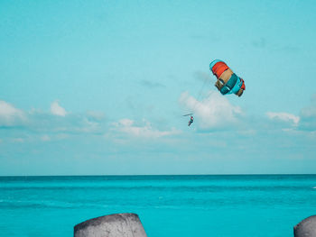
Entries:
{"label": "large puffy white cloud directly below the colorful parachute", "polygon": [[231,105],[225,96],[218,92],[210,91],[209,96],[198,101],[189,93],[181,94],[179,102],[188,112],[194,113],[199,118],[200,129],[217,129],[229,127],[238,123],[238,118],[243,114],[239,106]]}

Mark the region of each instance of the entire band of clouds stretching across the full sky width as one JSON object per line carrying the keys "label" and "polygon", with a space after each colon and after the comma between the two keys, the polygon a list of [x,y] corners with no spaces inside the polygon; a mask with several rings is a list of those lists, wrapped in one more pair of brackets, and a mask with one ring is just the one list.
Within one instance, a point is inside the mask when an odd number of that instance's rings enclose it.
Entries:
{"label": "entire band of clouds stretching across the full sky width", "polygon": [[[258,132],[303,132],[316,133],[316,96],[311,105],[302,108],[299,115],[287,112],[266,112],[254,117],[246,114],[241,107],[229,102],[228,97],[216,91],[199,101],[188,92],[183,92],[179,103],[184,111],[194,113],[195,121],[191,132],[224,132],[234,131],[243,136],[254,136]],[[181,125],[183,125],[181,123]],[[132,120],[130,118],[110,121],[102,112],[89,111],[83,114],[67,112],[59,102],[51,103],[49,111],[23,111],[5,101],[0,101],[0,140],[27,141],[34,134],[41,141],[53,141],[62,136],[90,134],[108,139],[133,140],[159,139],[170,137],[177,139],[181,131],[176,127],[161,128],[161,124],[148,120]],[[10,128],[8,130],[7,128]],[[181,126],[183,128],[183,126]],[[234,133],[232,132],[232,133]],[[15,139],[15,140],[14,140]]]}

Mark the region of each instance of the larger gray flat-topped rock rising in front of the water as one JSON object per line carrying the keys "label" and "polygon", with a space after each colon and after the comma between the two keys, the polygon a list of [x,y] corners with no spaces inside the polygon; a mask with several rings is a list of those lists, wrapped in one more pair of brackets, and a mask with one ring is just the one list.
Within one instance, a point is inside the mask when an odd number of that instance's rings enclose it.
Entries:
{"label": "larger gray flat-topped rock rising in front of the water", "polygon": [[109,214],[79,223],[74,237],[147,237],[137,214]]}

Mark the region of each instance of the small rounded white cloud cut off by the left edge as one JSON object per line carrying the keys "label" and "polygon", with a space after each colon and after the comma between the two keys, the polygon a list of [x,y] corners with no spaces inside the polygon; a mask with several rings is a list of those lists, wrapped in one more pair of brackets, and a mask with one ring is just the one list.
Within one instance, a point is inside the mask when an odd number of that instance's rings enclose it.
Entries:
{"label": "small rounded white cloud cut off by the left edge", "polygon": [[22,110],[13,105],[0,101],[0,126],[20,125],[26,121],[26,115]]}

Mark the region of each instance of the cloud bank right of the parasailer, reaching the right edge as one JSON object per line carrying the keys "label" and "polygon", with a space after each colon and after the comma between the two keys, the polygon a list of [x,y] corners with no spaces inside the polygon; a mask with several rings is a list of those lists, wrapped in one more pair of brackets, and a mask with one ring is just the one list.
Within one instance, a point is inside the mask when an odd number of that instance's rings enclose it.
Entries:
{"label": "cloud bank right of the parasailer, reaching the right edge", "polygon": [[241,107],[232,105],[226,96],[210,91],[209,96],[199,101],[183,92],[179,103],[184,111],[193,113],[198,131],[215,132],[225,130],[245,131],[301,131],[316,132],[316,95],[311,105],[302,108],[299,114],[287,112],[265,113],[254,117],[246,114]]}

